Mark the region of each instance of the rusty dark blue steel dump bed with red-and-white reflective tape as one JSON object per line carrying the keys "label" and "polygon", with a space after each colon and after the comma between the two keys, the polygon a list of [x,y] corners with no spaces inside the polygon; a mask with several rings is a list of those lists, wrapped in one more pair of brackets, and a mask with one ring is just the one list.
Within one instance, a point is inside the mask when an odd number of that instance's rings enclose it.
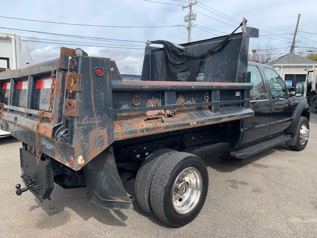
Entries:
{"label": "rusty dark blue steel dump bed with red-and-white reflective tape", "polygon": [[[146,47],[140,81],[122,80],[109,58],[61,48],[56,60],[0,73],[1,127],[80,170],[114,141],[251,117],[247,57],[257,34],[244,28],[230,36],[199,62],[194,81],[187,72],[161,78],[162,47]],[[223,39],[181,46],[203,53]]]}

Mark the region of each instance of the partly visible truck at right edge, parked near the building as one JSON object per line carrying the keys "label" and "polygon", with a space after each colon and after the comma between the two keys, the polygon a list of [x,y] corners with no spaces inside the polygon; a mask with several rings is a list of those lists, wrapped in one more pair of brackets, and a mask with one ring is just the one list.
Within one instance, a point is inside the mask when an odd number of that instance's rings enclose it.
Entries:
{"label": "partly visible truck at right edge, parked near the building", "polygon": [[304,96],[307,97],[308,104],[313,113],[317,113],[317,68],[312,67],[308,70],[305,80]]}

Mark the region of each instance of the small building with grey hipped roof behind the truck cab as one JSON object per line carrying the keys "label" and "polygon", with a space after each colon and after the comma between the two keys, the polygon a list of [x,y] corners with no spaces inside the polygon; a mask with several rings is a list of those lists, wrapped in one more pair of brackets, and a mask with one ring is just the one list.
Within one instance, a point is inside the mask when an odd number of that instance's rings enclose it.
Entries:
{"label": "small building with grey hipped roof behind the truck cab", "polygon": [[317,66],[317,62],[290,53],[273,60],[269,65],[279,73],[288,86],[295,86],[297,81],[305,81],[307,68]]}

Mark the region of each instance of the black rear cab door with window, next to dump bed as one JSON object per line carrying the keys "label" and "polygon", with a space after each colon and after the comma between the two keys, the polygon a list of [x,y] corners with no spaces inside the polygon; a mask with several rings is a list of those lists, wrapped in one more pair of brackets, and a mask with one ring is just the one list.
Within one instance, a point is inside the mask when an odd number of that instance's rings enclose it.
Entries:
{"label": "black rear cab door with window, next to dump bed", "polygon": [[250,108],[254,111],[254,117],[247,119],[245,128],[247,135],[245,144],[262,139],[268,135],[271,114],[271,102],[267,90],[265,90],[265,78],[259,69],[260,65],[249,62],[248,72],[251,73]]}

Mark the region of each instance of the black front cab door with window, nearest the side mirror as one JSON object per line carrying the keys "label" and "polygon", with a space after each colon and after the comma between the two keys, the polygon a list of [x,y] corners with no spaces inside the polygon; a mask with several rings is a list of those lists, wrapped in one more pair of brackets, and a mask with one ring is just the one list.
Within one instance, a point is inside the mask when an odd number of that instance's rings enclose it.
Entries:
{"label": "black front cab door with window, nearest the side mirror", "polygon": [[284,80],[270,67],[264,67],[264,74],[271,97],[270,130],[268,135],[282,132],[292,123],[295,97],[289,97]]}

